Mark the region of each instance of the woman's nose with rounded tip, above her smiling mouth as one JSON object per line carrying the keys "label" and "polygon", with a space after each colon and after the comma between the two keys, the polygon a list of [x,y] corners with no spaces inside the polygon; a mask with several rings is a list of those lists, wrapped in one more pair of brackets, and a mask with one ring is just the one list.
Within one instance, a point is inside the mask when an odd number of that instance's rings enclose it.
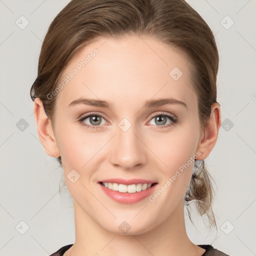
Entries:
{"label": "woman's nose with rounded tip, above her smiling mouth", "polygon": [[115,167],[129,170],[141,167],[146,162],[147,149],[142,135],[135,130],[135,125],[126,131],[118,127],[110,146],[110,162]]}

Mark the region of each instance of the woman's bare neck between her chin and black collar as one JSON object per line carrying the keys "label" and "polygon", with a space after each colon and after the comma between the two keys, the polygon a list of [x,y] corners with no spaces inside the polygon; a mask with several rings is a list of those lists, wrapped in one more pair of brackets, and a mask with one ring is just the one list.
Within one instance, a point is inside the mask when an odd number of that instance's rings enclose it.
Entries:
{"label": "woman's bare neck between her chin and black collar", "polygon": [[75,242],[64,256],[80,255],[202,255],[185,230],[183,203],[165,221],[140,234],[109,232],[91,219],[74,201]]}

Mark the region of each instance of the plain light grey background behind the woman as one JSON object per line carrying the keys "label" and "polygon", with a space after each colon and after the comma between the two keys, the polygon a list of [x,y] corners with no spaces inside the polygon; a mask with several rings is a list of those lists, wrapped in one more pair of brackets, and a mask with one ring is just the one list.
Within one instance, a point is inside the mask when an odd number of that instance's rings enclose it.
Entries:
{"label": "plain light grey background behind the woman", "polygon": [[[29,96],[46,30],[68,1],[0,0],[2,256],[49,255],[75,239],[72,198],[65,187],[59,194],[62,169],[38,139]],[[187,232],[197,244],[213,241],[230,255],[256,255],[256,1],[187,1],[215,34],[222,121],[206,159],[217,184],[213,209],[218,230],[209,234],[200,218],[196,230],[186,216]],[[29,22],[23,29],[20,19],[22,25]]]}

